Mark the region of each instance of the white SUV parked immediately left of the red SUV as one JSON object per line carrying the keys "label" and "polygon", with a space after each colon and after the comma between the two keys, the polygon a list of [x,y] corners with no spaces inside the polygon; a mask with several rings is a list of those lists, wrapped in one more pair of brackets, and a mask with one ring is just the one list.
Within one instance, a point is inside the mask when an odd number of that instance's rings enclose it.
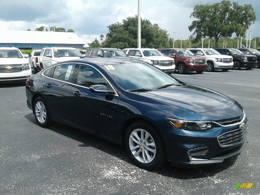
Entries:
{"label": "white SUV parked immediately left of the red SUV", "polygon": [[161,70],[172,74],[175,70],[174,59],[166,57],[157,49],[150,48],[126,48],[123,51],[129,56],[139,61],[151,64]]}

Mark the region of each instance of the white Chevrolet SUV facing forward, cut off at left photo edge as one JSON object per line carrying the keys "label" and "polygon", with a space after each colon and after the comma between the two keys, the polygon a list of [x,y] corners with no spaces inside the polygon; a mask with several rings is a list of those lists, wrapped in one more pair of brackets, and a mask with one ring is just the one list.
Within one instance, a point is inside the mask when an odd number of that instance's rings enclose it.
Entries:
{"label": "white Chevrolet SUV facing forward, cut off at left photo edge", "polygon": [[25,82],[31,74],[29,62],[18,48],[0,48],[0,82]]}

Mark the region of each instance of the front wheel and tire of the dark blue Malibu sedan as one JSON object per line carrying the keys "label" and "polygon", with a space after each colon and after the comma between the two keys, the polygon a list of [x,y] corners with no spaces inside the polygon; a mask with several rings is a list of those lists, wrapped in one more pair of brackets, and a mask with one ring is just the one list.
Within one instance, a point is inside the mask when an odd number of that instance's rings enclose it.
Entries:
{"label": "front wheel and tire of the dark blue Malibu sedan", "polygon": [[[143,140],[141,140],[141,131],[144,132]],[[133,132],[134,134],[132,134]],[[166,162],[167,155],[164,141],[158,131],[147,122],[137,121],[128,127],[125,136],[125,145],[127,153],[141,168],[155,169]],[[136,149],[133,150],[134,148]],[[134,156],[133,153],[136,154],[136,156]]]}

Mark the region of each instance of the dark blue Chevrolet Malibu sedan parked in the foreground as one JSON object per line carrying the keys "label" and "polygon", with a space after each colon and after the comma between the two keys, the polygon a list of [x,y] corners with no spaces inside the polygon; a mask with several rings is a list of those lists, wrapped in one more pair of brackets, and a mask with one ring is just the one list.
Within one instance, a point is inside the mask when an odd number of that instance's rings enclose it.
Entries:
{"label": "dark blue Chevrolet Malibu sedan parked in the foreground", "polygon": [[31,76],[26,96],[41,127],[57,121],[95,134],[146,169],[220,163],[246,144],[237,101],[136,60],[60,62]]}

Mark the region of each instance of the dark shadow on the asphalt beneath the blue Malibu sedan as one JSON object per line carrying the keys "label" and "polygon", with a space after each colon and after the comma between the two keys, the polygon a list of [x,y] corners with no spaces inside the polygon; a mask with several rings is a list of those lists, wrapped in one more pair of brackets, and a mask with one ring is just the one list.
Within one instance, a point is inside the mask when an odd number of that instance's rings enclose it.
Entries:
{"label": "dark shadow on the asphalt beneath the blue Malibu sedan", "polygon": [[[34,114],[30,113],[24,116],[28,121],[38,125],[35,120]],[[101,150],[109,155],[121,159],[133,166],[136,166],[134,162],[127,155],[126,150],[122,149],[120,145],[117,145],[113,142],[107,141],[105,139],[99,138],[90,133],[78,130],[76,128],[63,125],[62,123],[56,122],[54,128],[46,128],[52,132],[59,133],[63,136],[66,136],[70,139],[74,139],[82,144],[79,144],[79,147],[93,147],[98,150]],[[220,164],[213,164],[206,167],[199,168],[177,168],[170,166],[169,163],[165,164],[162,167],[157,168],[156,170],[149,171],[151,173],[157,173],[165,177],[171,177],[176,179],[194,179],[194,178],[205,178],[213,177],[215,174],[224,171],[225,169],[231,167],[235,164],[238,155],[233,156]]]}

